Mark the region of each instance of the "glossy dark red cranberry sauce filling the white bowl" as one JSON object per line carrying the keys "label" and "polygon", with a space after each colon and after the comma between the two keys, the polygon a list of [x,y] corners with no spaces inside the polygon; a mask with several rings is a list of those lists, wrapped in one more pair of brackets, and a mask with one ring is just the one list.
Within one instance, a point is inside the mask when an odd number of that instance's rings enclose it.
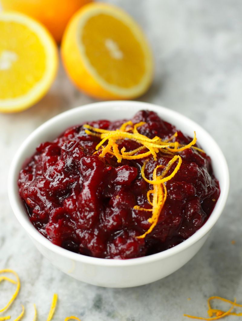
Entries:
{"label": "glossy dark red cranberry sauce filling the white bowl", "polygon": [[[149,138],[168,139],[177,129],[152,111],[139,111],[134,124],[144,121],[139,132]],[[89,122],[114,130],[125,120]],[[177,131],[175,138],[188,144],[191,138]],[[101,258],[127,259],[146,256],[173,247],[196,232],[207,220],[220,194],[210,157],[193,148],[179,152],[182,164],[166,182],[167,199],[159,221],[145,239],[137,239],[150,227],[151,212],[146,193],[153,187],[141,177],[152,179],[157,165],[166,165],[173,155],[122,160],[104,158],[95,152],[100,138],[85,133],[82,125],[67,129],[53,142],[40,144],[21,170],[19,193],[30,221],[47,239],[70,251]],[[126,151],[139,147],[131,140],[119,142]],[[174,164],[175,167],[176,164]],[[171,171],[174,169],[171,168]]]}

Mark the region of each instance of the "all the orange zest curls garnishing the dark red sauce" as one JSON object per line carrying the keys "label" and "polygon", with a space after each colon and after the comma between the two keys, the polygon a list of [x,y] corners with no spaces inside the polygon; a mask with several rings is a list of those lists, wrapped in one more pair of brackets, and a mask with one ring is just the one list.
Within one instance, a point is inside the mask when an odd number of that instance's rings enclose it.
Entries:
{"label": "all the orange zest curls garnishing the dark red sauce", "polygon": [[[116,130],[105,130],[90,126],[88,124],[85,124],[83,127],[85,128],[86,134],[100,138],[101,141],[96,145],[96,152],[98,152],[99,150],[101,151],[99,157],[104,157],[108,153],[114,155],[117,158],[118,163],[121,163],[122,159],[134,160],[145,158],[150,155],[153,156],[154,160],[157,160],[158,152],[169,153],[172,155],[174,153],[182,152],[183,150],[191,147],[196,148],[200,152],[203,152],[203,150],[194,146],[196,144],[195,132],[194,138],[189,144],[181,145],[177,141],[171,142],[171,140],[177,137],[177,133],[172,135],[167,140],[162,140],[158,136],[155,136],[154,138],[148,138],[147,136],[140,134],[138,132],[138,128],[145,124],[145,122],[139,122],[138,124],[134,125],[132,121],[129,120],[122,124],[120,129]],[[129,152],[126,152],[125,147],[122,147],[121,150],[119,150],[118,142],[122,139],[131,139],[133,141],[136,141],[140,144],[140,147]],[[104,143],[106,143],[105,146]],[[171,174],[166,176],[166,174],[168,174],[170,169],[173,167],[173,164],[176,162],[177,164]],[[152,209],[142,208],[138,205],[134,206],[134,209],[152,212],[152,216],[148,219],[148,222],[151,224],[151,226],[144,234],[137,236],[137,239],[145,238],[146,235],[149,234],[157,224],[167,197],[167,189],[164,183],[176,175],[181,166],[181,163],[181,157],[175,154],[175,156],[168,162],[166,166],[156,166],[153,172],[153,179],[149,180],[145,177],[147,160],[144,162],[144,165],[141,169],[141,175],[147,183],[152,184],[154,187],[147,192],[147,199],[149,204],[152,205]],[[160,175],[157,175],[157,170],[161,168],[163,168],[163,171]],[[153,195],[152,201],[150,199],[151,194]]]}

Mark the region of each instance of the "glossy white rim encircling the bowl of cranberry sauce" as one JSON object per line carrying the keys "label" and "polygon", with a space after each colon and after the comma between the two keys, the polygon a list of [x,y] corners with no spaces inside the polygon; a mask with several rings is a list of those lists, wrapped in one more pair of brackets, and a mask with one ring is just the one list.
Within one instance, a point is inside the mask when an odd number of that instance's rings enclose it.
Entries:
{"label": "glossy white rim encircling the bowl of cranberry sauce", "polygon": [[[224,174],[224,188],[221,190],[221,194],[219,196],[219,199],[215,205],[215,208],[208,218],[208,220],[204,223],[204,225],[197,230],[192,236],[190,236],[187,240],[183,241],[182,243],[176,245],[175,247],[172,247],[170,249],[167,249],[163,252],[159,252],[156,254],[152,254],[149,256],[143,256],[139,258],[132,258],[132,259],[126,259],[126,260],[118,260],[118,259],[103,259],[103,258],[96,258],[96,257],[90,257],[90,256],[84,256],[78,253],[71,252],[69,250],[66,250],[62,247],[59,247],[57,245],[54,245],[51,243],[48,239],[46,239],[42,234],[39,233],[39,231],[34,227],[34,225],[30,222],[29,218],[27,217],[26,212],[20,208],[19,206],[19,199],[20,196],[18,194],[18,190],[16,188],[17,186],[17,181],[16,177],[18,176],[18,173],[16,173],[16,170],[18,168],[19,164],[19,159],[21,158],[22,153],[25,151],[26,147],[31,144],[32,140],[34,137],[37,137],[43,130],[46,129],[46,127],[51,126],[52,124],[58,122],[58,120],[62,119],[63,117],[70,116],[71,114],[75,114],[77,110],[81,108],[82,111],[84,110],[89,110],[90,113],[93,110],[95,111],[96,108],[102,108],[110,106],[115,107],[115,106],[120,106],[120,105],[132,105],[138,107],[140,110],[141,109],[148,109],[148,110],[153,110],[158,113],[162,113],[164,115],[164,120],[165,120],[165,115],[171,115],[172,117],[179,118],[179,122],[187,123],[189,122],[194,126],[194,128],[199,129],[200,132],[202,132],[204,135],[206,135],[209,138],[209,141],[211,144],[213,144],[213,148],[216,149],[216,154],[218,159],[220,160],[220,166],[223,170]],[[125,117],[124,117],[125,118]],[[84,119],[85,121],[85,119]],[[73,124],[75,125],[75,124]],[[179,127],[179,126],[177,126]],[[178,128],[179,129],[179,128]],[[63,128],[63,131],[65,128]],[[199,142],[199,141],[198,141]],[[26,159],[30,157],[31,155],[26,155]],[[20,148],[18,149],[17,153],[15,154],[13,158],[13,162],[10,167],[9,171],[9,178],[8,178],[8,194],[9,194],[9,199],[10,203],[13,209],[13,212],[15,213],[18,221],[21,223],[23,228],[29,233],[29,235],[35,239],[37,242],[41,243],[44,245],[46,248],[49,250],[68,257],[69,259],[72,259],[74,261],[79,261],[79,262],[84,262],[90,265],[101,265],[101,266],[131,266],[131,265],[140,265],[140,264],[146,264],[150,262],[154,262],[160,259],[164,259],[166,257],[172,256],[178,252],[181,252],[191,246],[192,244],[196,243],[199,239],[201,239],[206,233],[208,233],[209,230],[213,227],[215,222],[218,220],[224,206],[226,203],[226,199],[228,196],[228,191],[229,191],[229,171],[228,171],[228,166],[226,163],[226,160],[224,158],[223,153],[221,152],[221,149],[217,145],[217,143],[213,140],[213,138],[197,123],[193,122],[189,118],[179,114],[178,112],[175,112],[173,110],[149,104],[149,103],[144,103],[144,102],[139,102],[139,101],[108,101],[108,102],[96,102],[92,104],[88,104],[85,106],[80,106],[77,108],[70,109],[66,112],[63,112],[48,121],[46,121],[44,124],[39,126],[36,130],[34,130],[28,137],[27,139],[22,143]]]}

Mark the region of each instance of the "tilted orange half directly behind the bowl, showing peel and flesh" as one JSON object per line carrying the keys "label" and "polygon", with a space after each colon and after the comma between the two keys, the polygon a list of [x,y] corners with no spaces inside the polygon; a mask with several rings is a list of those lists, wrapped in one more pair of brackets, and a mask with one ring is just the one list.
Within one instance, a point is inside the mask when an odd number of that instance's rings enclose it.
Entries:
{"label": "tilted orange half directly behind the bowl, showing peel and flesh", "polygon": [[71,80],[101,99],[142,95],[153,77],[153,57],[138,24],[123,10],[92,3],[65,30],[62,58]]}

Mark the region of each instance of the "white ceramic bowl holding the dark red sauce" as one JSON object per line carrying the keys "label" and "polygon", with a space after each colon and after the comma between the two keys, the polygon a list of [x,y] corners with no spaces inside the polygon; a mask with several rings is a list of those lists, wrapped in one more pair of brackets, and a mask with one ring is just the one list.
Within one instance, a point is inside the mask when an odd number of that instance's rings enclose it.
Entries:
{"label": "white ceramic bowl holding the dark red sauce", "polygon": [[[73,253],[52,244],[29,221],[19,196],[17,179],[25,160],[41,142],[53,140],[73,125],[85,121],[131,118],[138,110],[155,111],[161,118],[174,124],[182,132],[197,139],[211,157],[213,171],[219,180],[221,193],[213,213],[206,223],[184,242],[161,253],[128,259],[100,259]],[[39,251],[61,271],[87,283],[104,287],[132,287],[159,280],[187,263],[202,247],[224,208],[229,191],[229,171],[226,160],[213,138],[198,124],[170,109],[138,101],[98,102],[68,110],[38,127],[22,143],[9,172],[8,193],[17,219]]]}

